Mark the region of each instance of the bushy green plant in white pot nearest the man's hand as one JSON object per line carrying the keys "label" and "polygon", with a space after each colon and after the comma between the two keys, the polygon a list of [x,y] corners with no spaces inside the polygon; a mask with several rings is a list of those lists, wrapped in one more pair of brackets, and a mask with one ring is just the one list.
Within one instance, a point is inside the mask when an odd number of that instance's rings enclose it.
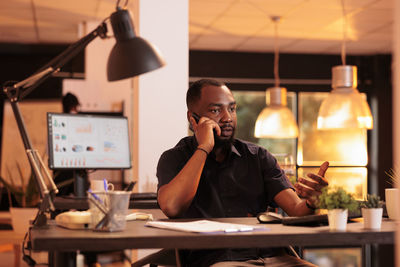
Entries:
{"label": "bushy green plant in white pot nearest the man's hand", "polygon": [[329,229],[345,231],[348,211],[355,211],[358,203],[342,187],[325,187],[317,200],[317,207],[328,210]]}

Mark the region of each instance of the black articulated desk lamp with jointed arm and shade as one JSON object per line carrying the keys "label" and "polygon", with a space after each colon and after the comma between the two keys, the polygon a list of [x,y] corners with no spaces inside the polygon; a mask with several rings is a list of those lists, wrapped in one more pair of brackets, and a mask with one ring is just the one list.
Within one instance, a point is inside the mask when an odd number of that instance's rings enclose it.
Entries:
{"label": "black articulated desk lamp with jointed arm and shade", "polygon": [[[3,91],[10,100],[14,117],[22,137],[22,142],[24,143],[31,168],[35,173],[36,183],[39,187],[40,197],[42,199],[38,215],[33,223],[35,226],[47,224],[46,212],[54,210],[53,198],[54,195],[57,194],[58,189],[39,153],[32,147],[18,102],[53,73],[58,72],[62,66],[74,58],[96,37],[107,38],[107,26],[105,23],[107,19],[95,30],[70,45],[64,52],[51,60],[32,76],[17,83],[7,82],[3,87]],[[118,81],[134,77],[165,65],[159,51],[146,40],[136,36],[129,12],[118,7],[118,3],[117,11],[111,14],[110,19],[116,44],[108,58],[107,76],[109,81]],[[47,187],[45,179],[49,183],[50,189]]]}

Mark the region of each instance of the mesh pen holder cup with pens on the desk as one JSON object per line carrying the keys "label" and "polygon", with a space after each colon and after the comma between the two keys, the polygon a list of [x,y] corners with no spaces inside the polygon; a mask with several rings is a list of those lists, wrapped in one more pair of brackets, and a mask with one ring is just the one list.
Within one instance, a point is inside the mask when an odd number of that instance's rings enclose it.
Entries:
{"label": "mesh pen holder cup with pens on the desk", "polygon": [[[89,208],[92,216],[90,228],[94,231],[123,231],[126,227],[126,215],[131,192],[96,191],[92,193],[94,196],[94,198],[92,198],[93,201],[89,201]],[[94,201],[97,203],[93,203]]]}

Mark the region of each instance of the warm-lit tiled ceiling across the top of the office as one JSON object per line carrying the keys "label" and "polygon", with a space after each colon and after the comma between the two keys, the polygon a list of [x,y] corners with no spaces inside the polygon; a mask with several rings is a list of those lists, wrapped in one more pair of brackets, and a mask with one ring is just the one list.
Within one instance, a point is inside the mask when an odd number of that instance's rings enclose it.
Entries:
{"label": "warm-lit tiled ceiling across the top of the office", "polygon": [[[103,20],[116,2],[2,0],[0,42],[74,42],[81,22]],[[391,53],[393,8],[394,0],[346,0],[346,53]],[[271,16],[281,17],[280,52],[340,53],[341,0],[189,0],[190,49],[272,52]]]}

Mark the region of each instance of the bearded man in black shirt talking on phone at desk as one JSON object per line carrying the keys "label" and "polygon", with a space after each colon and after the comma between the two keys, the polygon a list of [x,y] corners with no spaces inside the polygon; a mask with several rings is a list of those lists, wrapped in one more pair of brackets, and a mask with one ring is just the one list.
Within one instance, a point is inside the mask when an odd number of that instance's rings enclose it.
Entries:
{"label": "bearded man in black shirt talking on phone at desk", "polygon": [[[293,187],[267,150],[234,138],[236,102],[228,87],[210,79],[196,81],[186,103],[194,136],[164,152],[157,167],[158,203],[165,215],[256,216],[272,203],[290,216],[314,212],[313,196],[328,185],[328,162],[318,175],[309,174],[312,180],[300,178]],[[192,250],[184,251],[183,258],[187,266],[314,266],[274,248]]]}

